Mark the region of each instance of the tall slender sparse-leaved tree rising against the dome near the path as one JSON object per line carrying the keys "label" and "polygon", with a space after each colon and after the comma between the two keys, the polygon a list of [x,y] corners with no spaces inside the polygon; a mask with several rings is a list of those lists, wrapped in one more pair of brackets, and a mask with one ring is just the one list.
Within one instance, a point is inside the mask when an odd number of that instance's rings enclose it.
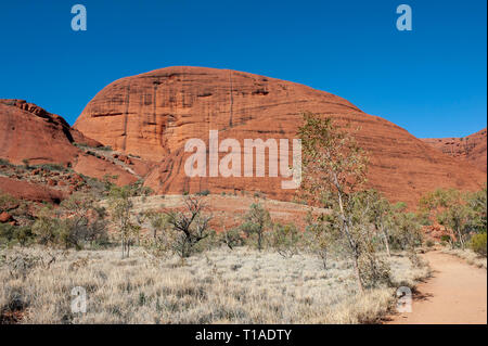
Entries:
{"label": "tall slender sparse-leaved tree rising against the dome near the path", "polygon": [[[365,182],[368,158],[354,138],[336,127],[331,117],[304,114],[298,130],[303,145],[303,182],[305,196],[314,203],[328,201],[334,223],[352,259],[359,291],[363,292],[359,261],[364,251],[367,231],[359,216],[356,191]],[[356,201],[355,201],[356,200]]]}

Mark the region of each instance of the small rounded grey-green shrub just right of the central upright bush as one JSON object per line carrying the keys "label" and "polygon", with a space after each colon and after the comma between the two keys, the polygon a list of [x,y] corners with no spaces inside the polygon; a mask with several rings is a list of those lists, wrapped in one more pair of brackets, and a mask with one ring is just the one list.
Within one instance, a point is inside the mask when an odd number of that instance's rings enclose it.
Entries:
{"label": "small rounded grey-green shrub just right of the central upright bush", "polygon": [[268,234],[270,246],[283,257],[293,257],[299,252],[303,233],[294,223],[274,223],[273,229]]}

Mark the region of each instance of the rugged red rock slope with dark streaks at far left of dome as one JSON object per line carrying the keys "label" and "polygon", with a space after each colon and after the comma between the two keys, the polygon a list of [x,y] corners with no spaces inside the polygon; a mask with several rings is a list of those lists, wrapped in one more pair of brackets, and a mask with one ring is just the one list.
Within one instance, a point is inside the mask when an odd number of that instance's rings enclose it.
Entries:
{"label": "rugged red rock slope with dark streaks at far left of dome", "polygon": [[[57,164],[99,179],[105,175],[117,176],[118,184],[134,182],[147,174],[147,165],[140,159],[130,162],[134,166],[131,169],[129,165],[94,153],[100,146],[100,142],[70,128],[59,115],[23,100],[0,100],[0,158],[15,165]],[[26,175],[11,171],[11,168],[0,165],[0,176],[9,177],[0,177],[2,192],[36,202],[59,202],[68,194],[65,181],[59,183],[52,177],[27,179]],[[38,171],[33,170],[33,177]]]}

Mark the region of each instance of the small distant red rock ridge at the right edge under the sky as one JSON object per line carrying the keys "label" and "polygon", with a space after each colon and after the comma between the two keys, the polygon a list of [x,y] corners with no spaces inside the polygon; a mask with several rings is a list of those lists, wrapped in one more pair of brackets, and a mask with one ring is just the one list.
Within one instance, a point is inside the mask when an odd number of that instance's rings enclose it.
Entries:
{"label": "small distant red rock ridge at the right edge under the sky", "polygon": [[422,140],[449,156],[462,158],[483,171],[487,171],[486,128],[463,138],[425,138]]}

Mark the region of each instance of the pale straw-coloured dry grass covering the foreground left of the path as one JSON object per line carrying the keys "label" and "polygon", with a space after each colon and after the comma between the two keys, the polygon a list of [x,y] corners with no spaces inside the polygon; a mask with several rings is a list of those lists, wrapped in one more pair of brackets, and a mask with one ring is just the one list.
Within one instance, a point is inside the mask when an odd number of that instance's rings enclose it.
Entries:
{"label": "pale straw-coloured dry grass covering the foreground left of the path", "polygon": [[[214,249],[182,264],[136,248],[2,251],[0,309],[23,323],[370,323],[395,302],[394,289],[356,291],[350,266],[323,270],[308,255],[282,258],[247,247]],[[15,260],[16,258],[16,260]],[[391,258],[399,284],[426,275],[402,256]],[[87,291],[86,313],[72,313],[70,292]]]}

